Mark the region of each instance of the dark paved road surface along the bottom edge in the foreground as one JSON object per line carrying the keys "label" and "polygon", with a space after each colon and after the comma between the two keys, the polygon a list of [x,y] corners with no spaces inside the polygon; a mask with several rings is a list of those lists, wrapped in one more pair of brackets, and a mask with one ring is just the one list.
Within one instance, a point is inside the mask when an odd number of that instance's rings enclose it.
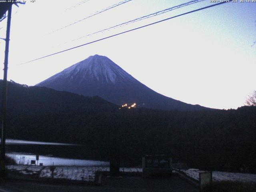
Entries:
{"label": "dark paved road surface along the bottom edge in the foreground", "polygon": [[102,186],[53,184],[32,181],[0,181],[0,192],[198,192],[178,176],[163,179],[141,177],[102,178]]}

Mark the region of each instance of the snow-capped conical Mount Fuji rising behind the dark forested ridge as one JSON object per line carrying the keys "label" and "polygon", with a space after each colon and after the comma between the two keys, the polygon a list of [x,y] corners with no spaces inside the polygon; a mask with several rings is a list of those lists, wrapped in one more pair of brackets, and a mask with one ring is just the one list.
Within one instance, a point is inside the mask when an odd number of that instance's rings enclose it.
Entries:
{"label": "snow-capped conical Mount Fuji rising behind the dark forested ridge", "polygon": [[209,109],[166,97],[142,84],[106,56],[89,56],[36,84],[84,96],[100,96],[114,104],[136,103],[160,110]]}

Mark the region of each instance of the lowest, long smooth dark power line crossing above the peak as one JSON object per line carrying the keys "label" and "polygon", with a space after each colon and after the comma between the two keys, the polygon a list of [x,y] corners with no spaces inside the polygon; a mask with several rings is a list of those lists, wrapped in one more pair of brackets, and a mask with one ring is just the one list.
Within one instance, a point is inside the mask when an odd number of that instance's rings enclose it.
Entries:
{"label": "lowest, long smooth dark power line crossing above the peak", "polygon": [[[94,40],[92,42],[88,42],[88,43],[85,43],[85,44],[82,44],[82,45],[79,45],[79,46],[75,46],[75,47],[72,47],[72,48],[69,48],[69,49],[66,49],[66,50],[62,50],[62,51],[59,51],[59,52],[56,52],[56,53],[53,53],[53,54],[50,54],[50,55],[46,55],[46,56],[43,56],[43,57],[40,57],[40,58],[37,58],[37,59],[33,59],[33,60],[28,61],[28,62],[24,62],[22,64],[26,64],[26,63],[29,63],[29,62],[32,62],[32,61],[36,61],[36,60],[39,60],[39,59],[42,59],[42,58],[46,58],[46,57],[49,57],[49,56],[52,56],[52,55],[56,55],[56,54],[59,54],[59,53],[62,53],[62,52],[68,51],[68,50],[72,50],[72,49],[75,49],[75,48],[78,48],[78,47],[82,47],[82,46],[85,46],[85,45],[88,45],[88,44],[92,44],[92,43],[95,43],[95,42],[98,42],[98,41],[102,41],[102,40],[105,40],[105,39],[108,39],[108,38],[111,38],[111,37],[114,37],[114,36],[118,36],[120,34],[131,32],[131,31],[134,31],[134,30],[137,30],[137,29],[140,29],[140,28],[151,26],[151,25],[154,25],[154,24],[166,21],[166,20],[170,20],[170,19],[173,19],[173,18],[176,18],[176,17],[179,17],[179,16],[190,14],[190,13],[193,13],[193,12],[196,12],[196,11],[204,10],[204,9],[207,9],[207,8],[210,8],[210,7],[214,7],[214,6],[217,6],[217,5],[220,5],[220,4],[224,4],[224,3],[227,3],[227,2],[226,1],[220,2],[220,3],[217,3],[217,4],[213,4],[213,5],[210,5],[210,6],[206,6],[206,7],[203,7],[203,8],[196,9],[196,10],[192,10],[192,11],[189,11],[189,12],[186,12],[186,13],[182,13],[182,14],[179,14],[179,15],[176,15],[176,16],[172,16],[172,17],[166,18],[164,20],[153,22],[153,23],[150,23],[150,24],[147,24],[147,25],[144,25],[144,26],[140,26],[140,27],[137,27],[137,28],[134,28],[134,29],[130,29],[130,30],[124,31],[124,32],[120,32],[118,34],[114,34],[114,35],[107,36],[107,37],[104,37],[104,38],[101,38],[101,39],[98,39],[98,40]],[[22,65],[22,64],[20,64],[20,65]]]}

